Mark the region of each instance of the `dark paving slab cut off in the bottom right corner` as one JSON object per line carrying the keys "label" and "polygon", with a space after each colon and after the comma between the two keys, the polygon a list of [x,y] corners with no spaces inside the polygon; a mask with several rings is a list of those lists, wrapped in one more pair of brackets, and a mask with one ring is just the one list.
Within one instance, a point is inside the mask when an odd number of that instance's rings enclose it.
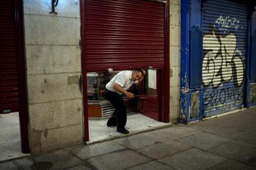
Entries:
{"label": "dark paving slab cut off in the bottom right corner", "polygon": [[254,169],[255,170],[256,168],[252,166],[248,166],[246,164],[241,164],[240,162],[228,160],[226,162],[219,164],[218,166],[211,167],[210,169],[207,169],[207,170],[227,170],[227,169],[233,169],[233,170],[240,170],[240,169],[253,170]]}

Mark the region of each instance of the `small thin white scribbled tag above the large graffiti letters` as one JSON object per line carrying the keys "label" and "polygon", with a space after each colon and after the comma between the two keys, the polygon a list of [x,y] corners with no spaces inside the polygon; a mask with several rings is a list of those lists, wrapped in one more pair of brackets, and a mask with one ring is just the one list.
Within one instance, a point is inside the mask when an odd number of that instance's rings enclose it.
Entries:
{"label": "small thin white scribbled tag above the large graffiti letters", "polygon": [[234,27],[237,30],[239,27],[239,20],[236,20],[236,18],[230,18],[230,16],[226,16],[225,18],[223,16],[219,16],[215,22],[224,28]]}

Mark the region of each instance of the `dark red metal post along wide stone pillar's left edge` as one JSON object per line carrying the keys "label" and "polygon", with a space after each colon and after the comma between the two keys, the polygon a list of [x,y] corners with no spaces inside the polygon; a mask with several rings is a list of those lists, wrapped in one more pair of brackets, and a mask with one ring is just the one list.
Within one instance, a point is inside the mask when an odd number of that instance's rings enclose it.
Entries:
{"label": "dark red metal post along wide stone pillar's left edge", "polygon": [[16,54],[18,60],[18,82],[20,88],[20,133],[21,151],[28,153],[28,101],[26,94],[26,71],[24,54],[24,35],[23,35],[23,1],[15,0],[15,21],[16,21]]}

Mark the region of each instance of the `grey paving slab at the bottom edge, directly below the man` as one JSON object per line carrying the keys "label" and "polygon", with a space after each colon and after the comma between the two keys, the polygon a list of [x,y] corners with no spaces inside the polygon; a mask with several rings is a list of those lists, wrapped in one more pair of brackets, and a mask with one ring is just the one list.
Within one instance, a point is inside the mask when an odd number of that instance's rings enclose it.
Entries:
{"label": "grey paving slab at the bottom edge, directly below the man", "polygon": [[96,169],[126,169],[144,162],[151,161],[151,159],[141,156],[132,150],[123,150],[120,152],[113,152],[103,156],[93,157],[88,159],[88,162],[95,166]]}

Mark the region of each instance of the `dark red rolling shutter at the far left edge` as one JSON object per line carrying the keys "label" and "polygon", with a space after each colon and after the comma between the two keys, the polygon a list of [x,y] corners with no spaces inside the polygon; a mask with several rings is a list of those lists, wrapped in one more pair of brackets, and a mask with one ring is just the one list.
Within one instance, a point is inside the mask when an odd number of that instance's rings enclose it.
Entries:
{"label": "dark red rolling shutter at the far left edge", "polygon": [[0,113],[19,110],[15,2],[0,1]]}

